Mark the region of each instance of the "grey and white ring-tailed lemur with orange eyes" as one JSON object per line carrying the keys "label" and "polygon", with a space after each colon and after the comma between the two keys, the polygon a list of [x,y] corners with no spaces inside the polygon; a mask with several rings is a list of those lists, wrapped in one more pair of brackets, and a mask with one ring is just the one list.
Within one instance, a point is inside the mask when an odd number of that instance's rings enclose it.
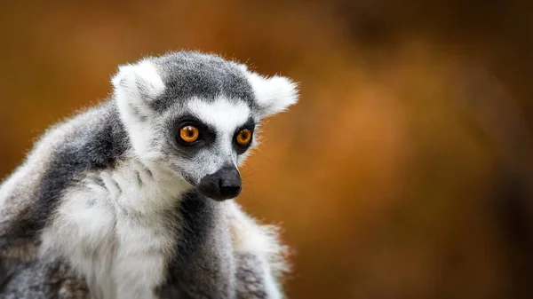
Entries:
{"label": "grey and white ring-tailed lemur with orange eyes", "polygon": [[297,84],[199,51],[111,83],[0,185],[0,298],[282,298],[286,246],[231,199]]}

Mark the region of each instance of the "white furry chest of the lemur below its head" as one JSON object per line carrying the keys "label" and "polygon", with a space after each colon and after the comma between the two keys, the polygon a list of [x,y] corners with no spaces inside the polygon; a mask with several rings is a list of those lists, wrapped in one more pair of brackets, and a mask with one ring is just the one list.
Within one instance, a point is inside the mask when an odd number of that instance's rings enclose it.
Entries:
{"label": "white furry chest of the lemur below its head", "polygon": [[[176,248],[176,193],[147,169],[91,173],[63,196],[44,249],[59,253],[97,298],[154,298]],[[177,186],[179,187],[179,186]]]}

